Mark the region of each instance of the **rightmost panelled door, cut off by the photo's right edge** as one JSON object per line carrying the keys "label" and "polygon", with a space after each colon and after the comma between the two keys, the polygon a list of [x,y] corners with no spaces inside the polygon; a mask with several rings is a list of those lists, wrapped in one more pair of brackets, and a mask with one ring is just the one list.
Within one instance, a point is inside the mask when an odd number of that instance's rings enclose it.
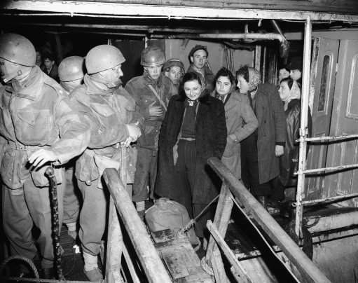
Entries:
{"label": "rightmost panelled door, cut off by the photo's right edge", "polygon": [[[341,41],[330,135],[358,133],[358,41]],[[358,163],[358,140],[329,145],[326,166]],[[328,196],[358,192],[358,169],[332,174],[324,180]],[[357,201],[357,199],[355,199]],[[355,203],[357,206],[357,202]]]}

